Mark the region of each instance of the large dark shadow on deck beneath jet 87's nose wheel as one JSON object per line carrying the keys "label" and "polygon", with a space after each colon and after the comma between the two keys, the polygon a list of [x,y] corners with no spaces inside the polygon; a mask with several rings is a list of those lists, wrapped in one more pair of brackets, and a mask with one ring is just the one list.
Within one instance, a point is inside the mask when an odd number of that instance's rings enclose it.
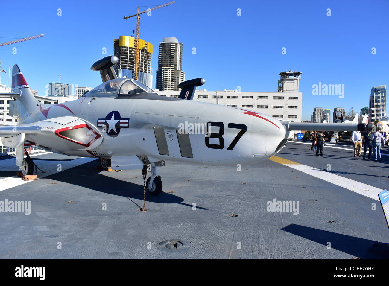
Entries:
{"label": "large dark shadow on deck beneath jet 87's nose wheel", "polygon": [[[93,189],[110,195],[122,196],[128,198],[131,202],[140,207],[132,199],[143,201],[143,185],[115,179],[103,174],[96,168],[96,161],[81,164],[77,167],[70,168],[45,177],[60,182],[66,182],[75,186]],[[139,173],[141,170],[139,170]],[[141,177],[141,175],[139,176]],[[180,204],[193,207],[191,204],[184,203],[184,199],[171,193],[162,192],[158,196],[149,195],[146,191],[146,202],[156,202],[161,204]],[[196,206],[198,209],[208,210],[204,207]]]}

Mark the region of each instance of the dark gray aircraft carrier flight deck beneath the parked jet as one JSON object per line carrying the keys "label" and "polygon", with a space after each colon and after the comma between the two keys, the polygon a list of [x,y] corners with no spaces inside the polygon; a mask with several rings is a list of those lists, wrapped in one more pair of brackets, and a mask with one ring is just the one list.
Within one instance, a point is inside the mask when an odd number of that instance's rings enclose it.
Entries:
{"label": "dark gray aircraft carrier flight deck beneath the parked jet", "polygon": [[[289,141],[240,171],[166,161],[163,193],[146,192],[145,212],[141,170],[39,153],[32,159],[46,173],[22,181],[14,157],[0,157],[0,201],[31,202],[28,215],[2,214],[0,257],[380,258],[368,247],[389,242],[377,196],[389,181],[387,147],[381,162],[354,158],[347,143],[327,143],[323,157],[309,148]],[[293,208],[277,210],[279,201]]]}

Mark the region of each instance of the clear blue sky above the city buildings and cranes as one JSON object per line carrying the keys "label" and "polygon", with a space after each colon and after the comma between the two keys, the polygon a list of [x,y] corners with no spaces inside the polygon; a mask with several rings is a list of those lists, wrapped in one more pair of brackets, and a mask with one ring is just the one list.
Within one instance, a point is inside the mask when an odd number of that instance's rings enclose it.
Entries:
{"label": "clear blue sky above the city buildings and cranes", "polygon": [[[32,89],[44,95],[46,84],[61,82],[95,87],[92,63],[102,48],[113,54],[113,39],[132,35],[137,5],[148,1],[14,1],[1,3],[0,37],[43,38],[0,47],[2,67],[18,64]],[[62,16],[57,15],[57,9]],[[241,9],[241,16],[237,16]],[[331,9],[331,16],[327,16]],[[184,44],[186,79],[204,77],[208,90],[276,91],[279,73],[302,72],[303,120],[314,107],[333,110],[368,107],[373,86],[388,81],[389,1],[184,1],[142,16],[140,38],[154,45],[153,85],[158,44],[176,37]],[[12,39],[0,39],[6,42]],[[12,54],[12,48],[17,54]],[[196,54],[192,48],[196,47]],[[282,48],[286,47],[286,54]],[[371,54],[375,47],[376,54]],[[2,73],[2,84],[8,75]],[[313,84],[344,84],[345,96],[313,95]],[[154,88],[154,86],[153,86]],[[389,109],[387,108],[387,111]]]}

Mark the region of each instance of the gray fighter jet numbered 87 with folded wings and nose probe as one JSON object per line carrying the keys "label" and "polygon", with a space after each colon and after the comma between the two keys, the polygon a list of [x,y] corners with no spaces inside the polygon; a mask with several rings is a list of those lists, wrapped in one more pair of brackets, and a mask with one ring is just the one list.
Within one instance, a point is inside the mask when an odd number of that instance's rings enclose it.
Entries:
{"label": "gray fighter jet numbered 87 with folded wings and nose probe", "polygon": [[[33,173],[26,144],[69,156],[99,158],[103,168],[149,166],[147,191],[162,191],[164,160],[199,165],[247,165],[279,152],[291,130],[366,131],[371,124],[296,123],[225,105],[193,101],[202,78],[179,84],[178,98],[163,97],[134,79],[117,78],[115,56],[91,67],[103,83],[63,104],[42,104],[31,93],[18,65],[12,69],[9,115],[18,125],[0,127],[0,138],[16,148],[16,165]],[[341,127],[340,127],[341,125]]]}

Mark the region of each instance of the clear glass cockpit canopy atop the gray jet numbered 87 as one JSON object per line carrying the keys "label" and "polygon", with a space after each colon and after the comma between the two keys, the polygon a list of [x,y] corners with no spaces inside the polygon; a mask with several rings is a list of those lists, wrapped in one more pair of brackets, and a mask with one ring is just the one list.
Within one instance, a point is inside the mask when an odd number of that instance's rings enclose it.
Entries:
{"label": "clear glass cockpit canopy atop the gray jet numbered 87", "polygon": [[109,97],[115,95],[135,95],[153,93],[154,91],[142,82],[135,79],[112,79],[95,87],[88,94],[95,97]]}

